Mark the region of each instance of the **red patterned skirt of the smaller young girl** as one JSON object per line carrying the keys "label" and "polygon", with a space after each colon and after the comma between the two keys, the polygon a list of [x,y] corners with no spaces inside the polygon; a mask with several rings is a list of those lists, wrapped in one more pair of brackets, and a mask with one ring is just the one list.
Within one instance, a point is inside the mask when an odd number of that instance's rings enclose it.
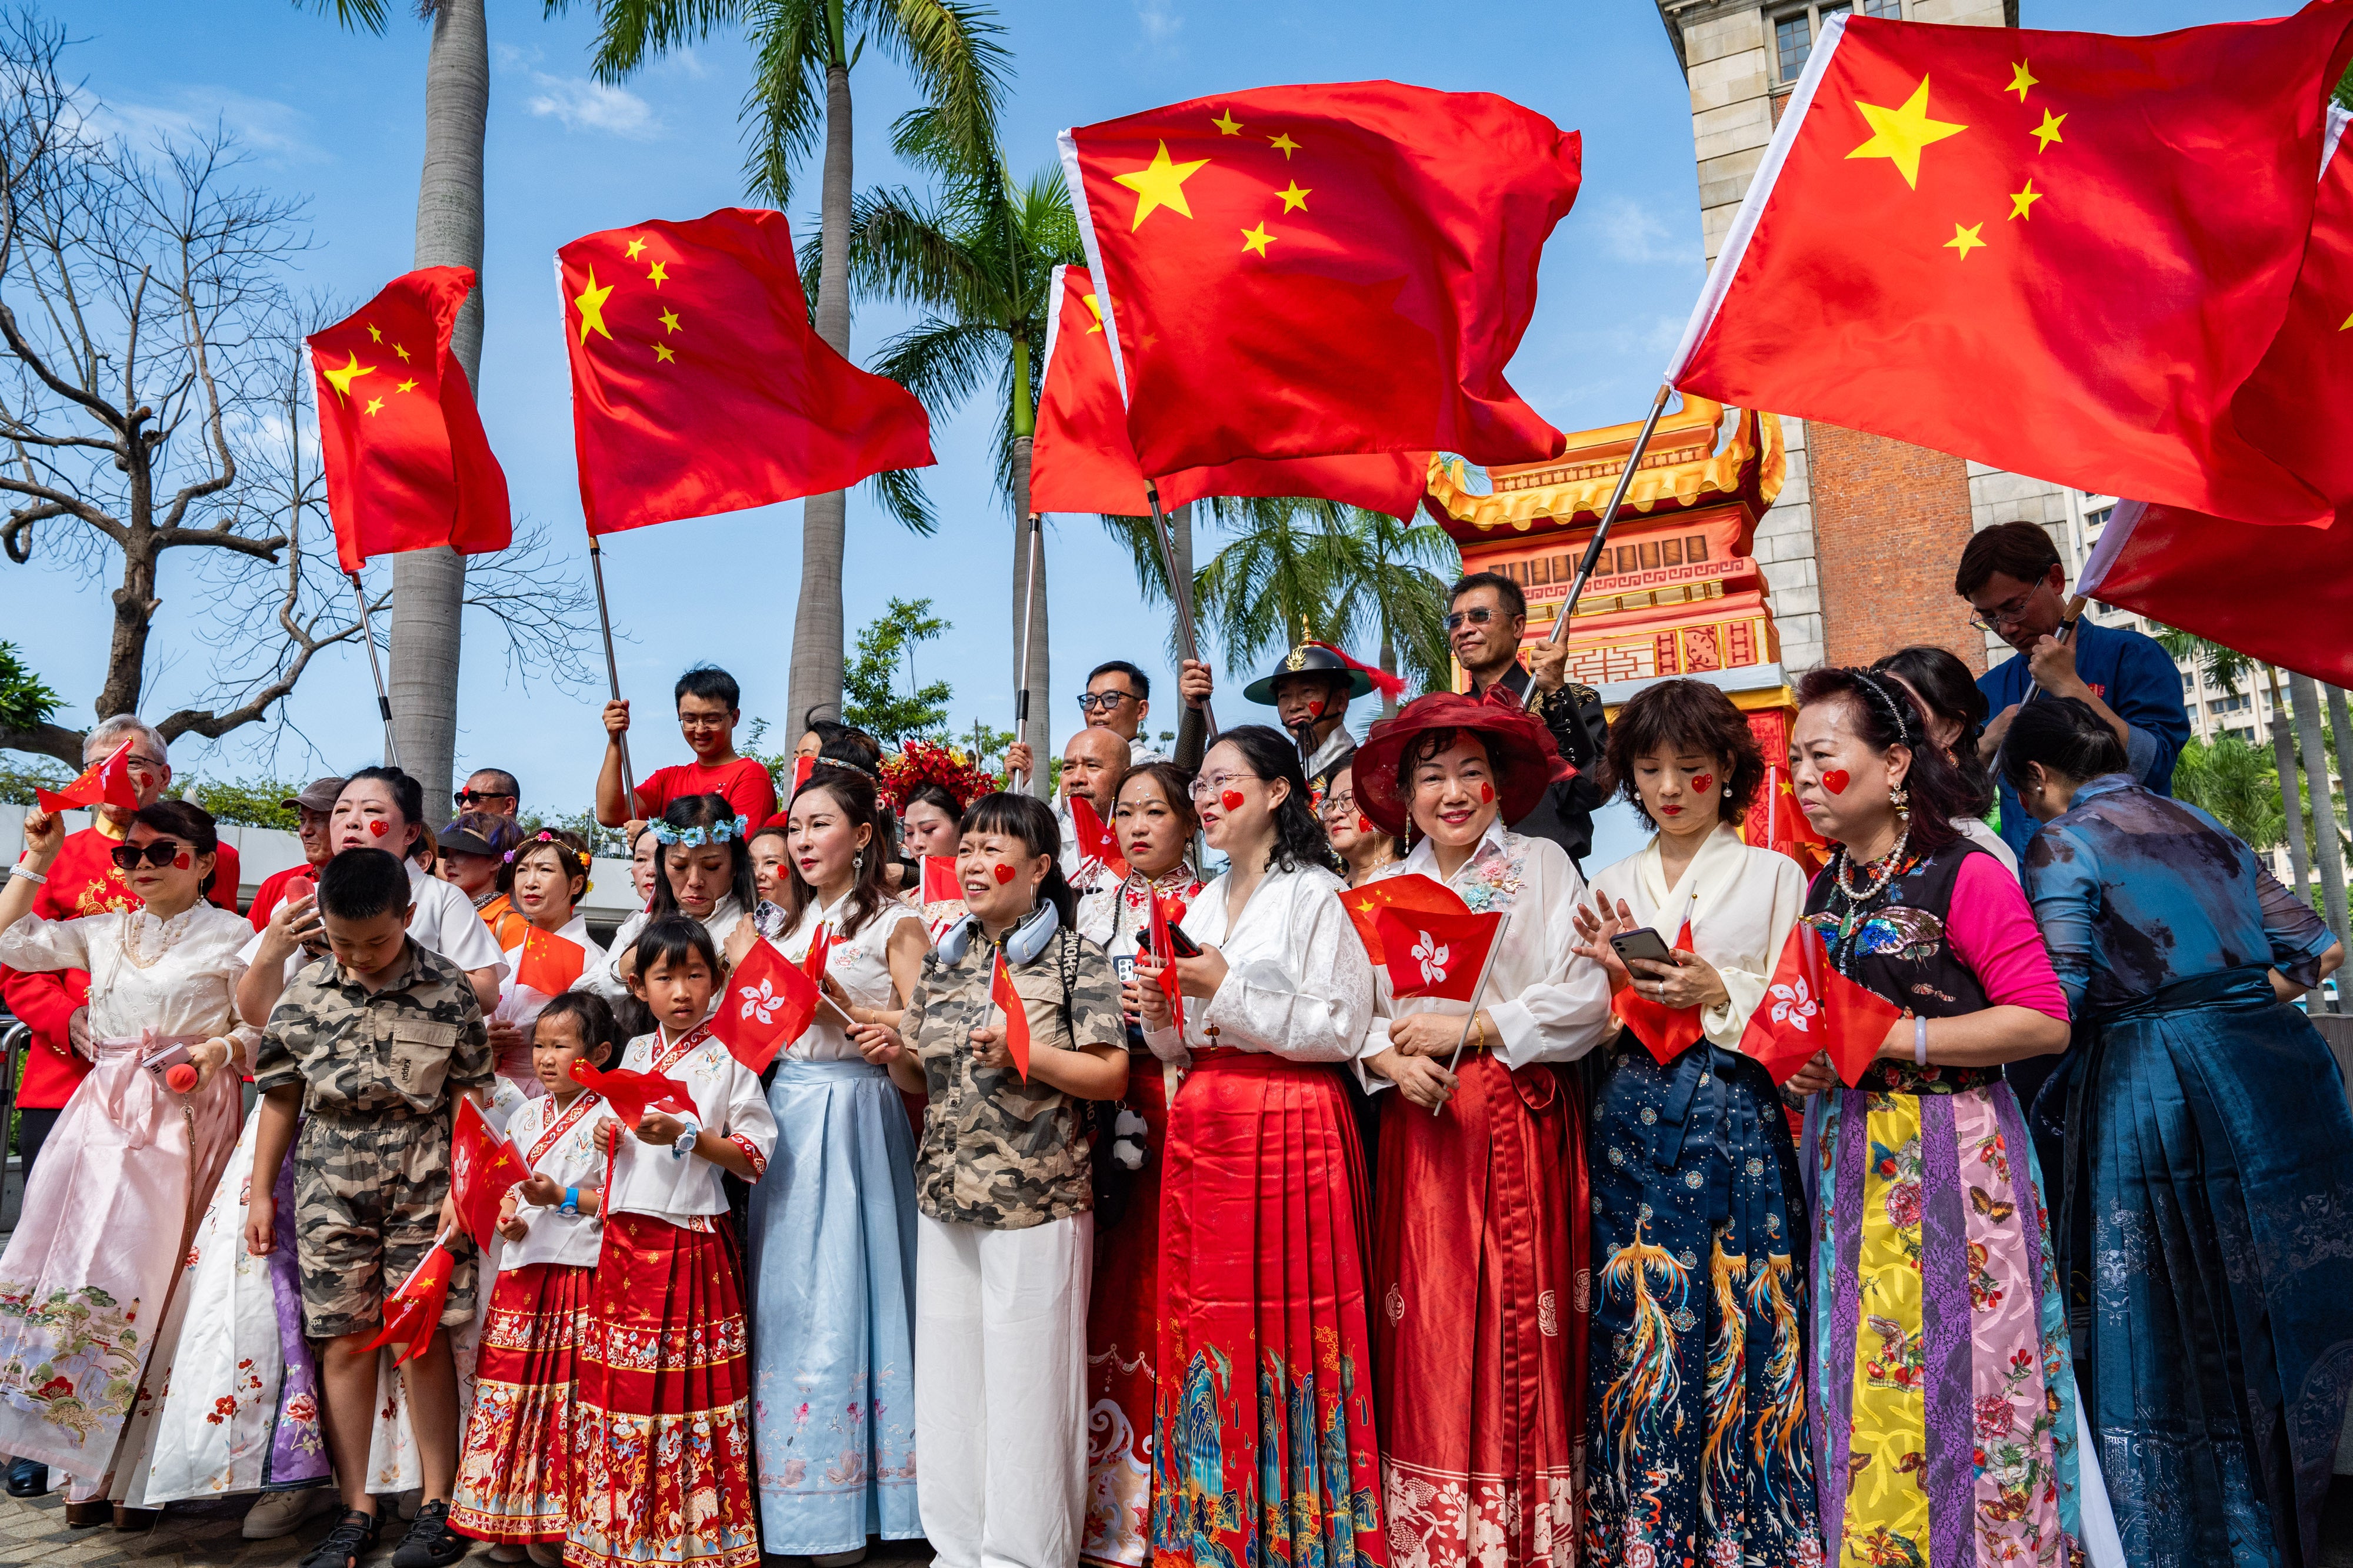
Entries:
{"label": "red patterned skirt of the smaller young girl", "polygon": [[492,1542],[553,1542],[572,1528],[574,1382],[595,1269],[501,1269],[473,1373],[449,1528]]}

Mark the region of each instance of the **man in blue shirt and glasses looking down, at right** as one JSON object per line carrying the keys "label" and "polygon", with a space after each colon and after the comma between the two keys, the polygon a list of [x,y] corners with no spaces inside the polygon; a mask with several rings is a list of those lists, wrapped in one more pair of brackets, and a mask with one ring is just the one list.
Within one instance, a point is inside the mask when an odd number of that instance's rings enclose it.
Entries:
{"label": "man in blue shirt and glasses looking down, at right", "polygon": [[[1953,592],[1969,602],[1972,625],[1979,625],[2019,651],[2019,658],[1977,677],[1993,722],[1979,741],[1979,755],[1993,764],[2009,733],[2009,717],[2026,701],[2026,684],[2042,696],[2073,696],[2092,705],[2125,743],[2132,776],[2158,795],[2174,792],[2174,757],[2191,738],[2191,715],[2181,705],[2181,670],[2153,637],[2108,625],[2075,623],[2075,635],[2059,642],[2066,616],[2066,569],[2049,534],[2031,522],[2002,522],[1960,552]],[[1998,780],[2000,783],[2000,780]],[[2019,806],[2017,792],[2000,783],[2002,839],[2026,856],[2026,839],[2038,823]]]}

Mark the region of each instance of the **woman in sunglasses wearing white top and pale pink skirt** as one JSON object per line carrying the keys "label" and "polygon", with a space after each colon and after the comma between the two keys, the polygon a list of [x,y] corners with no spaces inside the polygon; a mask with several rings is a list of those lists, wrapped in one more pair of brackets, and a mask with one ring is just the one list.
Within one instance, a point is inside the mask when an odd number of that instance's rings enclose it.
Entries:
{"label": "woman in sunglasses wearing white top and pale pink skirt", "polygon": [[[238,1072],[259,1030],[238,1020],[238,950],[252,936],[205,903],[219,863],[212,816],[144,806],[113,851],[139,903],[40,919],[33,898],[66,839],[24,818],[24,858],[0,886],[0,964],[89,971],[94,1067],[49,1133],[0,1255],[33,1309],[0,1316],[0,1366],[38,1368],[0,1392],[0,1450],[71,1476],[68,1523],[101,1523],[115,1450],[146,1373],[153,1324],[188,1229],[238,1143]],[[127,1523],[118,1519],[118,1523]]]}

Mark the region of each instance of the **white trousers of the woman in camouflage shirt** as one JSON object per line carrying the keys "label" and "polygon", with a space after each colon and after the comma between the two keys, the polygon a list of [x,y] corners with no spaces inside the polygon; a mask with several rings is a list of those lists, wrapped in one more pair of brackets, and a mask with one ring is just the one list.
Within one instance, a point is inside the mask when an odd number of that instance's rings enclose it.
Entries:
{"label": "white trousers of the woman in camouflage shirt", "polygon": [[936,1568],[1071,1568],[1087,1509],[1094,1215],[915,1218],[915,1505]]}

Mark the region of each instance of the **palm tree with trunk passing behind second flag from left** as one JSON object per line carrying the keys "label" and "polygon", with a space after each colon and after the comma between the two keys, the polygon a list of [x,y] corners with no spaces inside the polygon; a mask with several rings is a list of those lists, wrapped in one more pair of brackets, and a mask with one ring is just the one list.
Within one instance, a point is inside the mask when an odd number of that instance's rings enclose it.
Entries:
{"label": "palm tree with trunk passing behind second flag from left", "polygon": [[[572,0],[546,0],[567,9]],[[824,122],[819,190],[816,336],[849,353],[849,68],[868,40],[915,78],[932,106],[939,150],[962,167],[995,162],[998,110],[1007,54],[995,12],[967,0],[598,0],[605,19],[595,75],[626,78],[647,61],[736,24],[753,49],[744,96],[751,153],[744,176],[772,205],[793,200],[793,165],[805,160]],[[802,261],[802,273],[812,268]],[[887,371],[885,371],[887,374]],[[906,522],[927,517],[908,505],[906,482],[882,484],[885,505]],[[918,491],[920,494],[920,491]],[[791,715],[838,710],[842,701],[842,536],[847,496],[809,496],[800,510],[800,604],[793,614]]]}

